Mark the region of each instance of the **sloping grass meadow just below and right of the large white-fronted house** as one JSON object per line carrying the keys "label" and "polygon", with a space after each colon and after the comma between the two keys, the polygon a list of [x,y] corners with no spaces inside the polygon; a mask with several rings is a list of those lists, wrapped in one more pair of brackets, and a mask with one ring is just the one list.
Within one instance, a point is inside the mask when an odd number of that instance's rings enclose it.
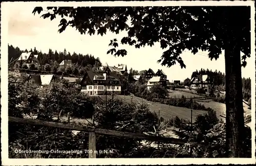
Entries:
{"label": "sloping grass meadow just below and right of the large white-fronted house", "polygon": [[[105,100],[105,96],[101,96]],[[108,99],[111,99],[112,96],[108,96]],[[172,106],[167,104],[161,104],[158,102],[147,101],[140,97],[136,96],[124,96],[116,95],[115,98],[123,99],[125,102],[134,102],[136,104],[141,104],[142,102],[149,104],[151,112],[155,112],[158,115],[160,110],[160,117],[163,117],[165,120],[178,116],[179,118],[186,119],[190,121],[191,118],[191,109],[185,107]],[[192,119],[196,120],[196,117],[200,114],[205,114],[205,110],[193,110]]]}

